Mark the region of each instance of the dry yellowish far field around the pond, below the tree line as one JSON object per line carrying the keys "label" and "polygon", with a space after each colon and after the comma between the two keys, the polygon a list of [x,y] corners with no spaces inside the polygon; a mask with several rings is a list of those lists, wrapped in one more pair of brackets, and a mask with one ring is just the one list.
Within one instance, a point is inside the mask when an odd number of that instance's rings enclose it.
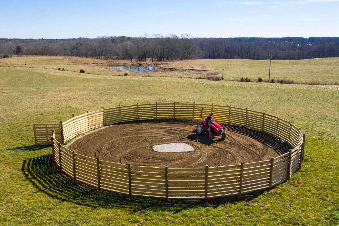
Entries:
{"label": "dry yellowish far field around the pond, below the tree line", "polygon": [[[250,78],[257,81],[258,78],[268,80],[269,60],[245,60],[245,59],[196,59],[174,62],[163,62],[165,68],[185,69],[179,71],[163,71],[157,73],[139,74],[128,70],[114,70],[107,67],[107,62],[129,63],[127,60],[100,60],[81,57],[62,56],[25,56],[1,59],[2,67],[42,68],[50,71],[64,68],[66,71],[79,72],[84,69],[86,74],[95,75],[124,75],[145,77],[177,77],[177,78],[206,78],[208,73],[217,73],[224,80],[240,80]],[[151,60],[149,61],[151,62]],[[26,63],[26,65],[25,65]],[[159,67],[160,67],[159,66]],[[158,67],[158,66],[157,66]],[[158,68],[159,69],[159,68]],[[205,71],[194,71],[205,70]],[[293,80],[295,83],[337,84],[339,83],[339,58],[319,58],[307,60],[273,60],[271,62],[270,80]],[[53,72],[50,72],[53,73]]]}

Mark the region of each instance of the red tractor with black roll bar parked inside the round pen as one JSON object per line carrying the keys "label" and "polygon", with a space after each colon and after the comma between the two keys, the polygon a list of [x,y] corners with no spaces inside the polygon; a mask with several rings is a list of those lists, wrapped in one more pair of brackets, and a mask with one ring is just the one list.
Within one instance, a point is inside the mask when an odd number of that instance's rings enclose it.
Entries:
{"label": "red tractor with black roll bar parked inside the round pen", "polygon": [[[197,133],[200,135],[208,133],[210,140],[212,140],[214,136],[221,136],[222,139],[224,140],[226,138],[226,134],[222,126],[219,123],[217,123],[213,118],[209,120],[210,122],[208,122],[207,118],[203,118],[201,116],[203,109],[206,109],[206,108],[201,109],[201,113],[200,113],[201,119],[200,119],[200,122],[197,124]],[[212,111],[211,111],[211,116],[213,116]]]}

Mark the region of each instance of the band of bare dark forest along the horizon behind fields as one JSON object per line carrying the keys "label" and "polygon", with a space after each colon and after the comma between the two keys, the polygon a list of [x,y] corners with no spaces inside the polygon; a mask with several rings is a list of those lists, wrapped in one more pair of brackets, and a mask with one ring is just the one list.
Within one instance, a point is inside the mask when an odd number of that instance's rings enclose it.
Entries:
{"label": "band of bare dark forest along the horizon behind fields", "polygon": [[13,55],[78,56],[109,60],[310,59],[339,57],[339,37],[193,38],[145,35],[73,39],[0,38],[0,58]]}

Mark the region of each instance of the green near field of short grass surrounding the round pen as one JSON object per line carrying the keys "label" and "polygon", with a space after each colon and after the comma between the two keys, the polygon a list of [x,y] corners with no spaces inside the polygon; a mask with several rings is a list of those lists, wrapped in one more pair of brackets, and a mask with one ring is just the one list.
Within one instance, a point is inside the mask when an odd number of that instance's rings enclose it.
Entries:
{"label": "green near field of short grass surrounding the round pen", "polygon": [[[0,67],[0,75],[0,225],[339,225],[338,86],[105,76],[48,68]],[[129,201],[124,194],[73,183],[51,165],[50,147],[34,146],[33,123],[58,123],[102,106],[155,101],[248,107],[289,120],[306,134],[302,169],[279,190],[241,198]],[[43,157],[42,165],[34,164],[36,157]]]}

